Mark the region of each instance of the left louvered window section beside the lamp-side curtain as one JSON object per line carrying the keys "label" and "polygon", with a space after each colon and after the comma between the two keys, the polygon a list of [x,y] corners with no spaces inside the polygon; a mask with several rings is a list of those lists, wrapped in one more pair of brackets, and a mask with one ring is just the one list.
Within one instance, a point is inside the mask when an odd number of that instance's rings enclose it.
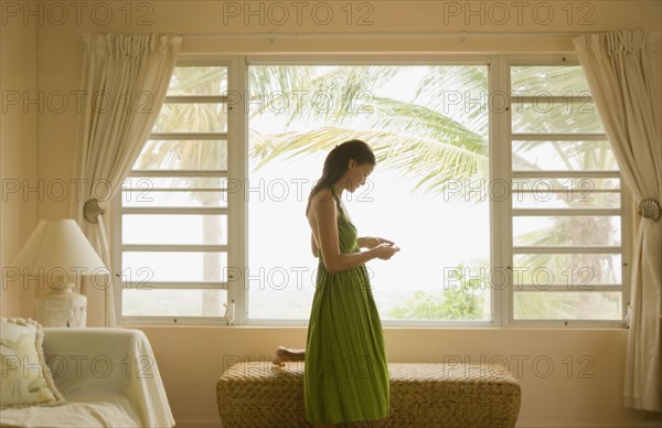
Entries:
{"label": "left louvered window section beside the lamp-side curtain", "polygon": [[225,317],[227,66],[182,65],[121,191],[121,320]]}

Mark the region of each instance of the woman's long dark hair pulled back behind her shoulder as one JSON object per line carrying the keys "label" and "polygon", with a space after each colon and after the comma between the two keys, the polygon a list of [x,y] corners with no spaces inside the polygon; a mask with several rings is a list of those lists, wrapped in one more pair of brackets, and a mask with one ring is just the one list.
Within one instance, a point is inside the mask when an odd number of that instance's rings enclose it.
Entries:
{"label": "woman's long dark hair pulled back behind her shoulder", "polygon": [[353,159],[360,165],[370,163],[376,164],[375,153],[370,146],[361,140],[349,140],[335,146],[324,160],[322,176],[314,183],[310,195],[308,196],[308,205],[306,206],[306,215],[310,211],[312,197],[322,189],[331,189],[344,173],[348,171],[350,160]]}

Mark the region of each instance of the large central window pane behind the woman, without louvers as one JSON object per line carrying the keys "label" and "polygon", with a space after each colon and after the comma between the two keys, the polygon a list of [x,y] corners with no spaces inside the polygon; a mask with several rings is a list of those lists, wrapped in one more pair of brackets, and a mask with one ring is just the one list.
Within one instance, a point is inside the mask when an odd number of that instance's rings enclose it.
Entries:
{"label": "large central window pane behind the woman, without louvers", "polygon": [[[468,185],[485,194],[487,64],[249,65],[248,72],[255,191],[248,320],[308,318],[318,259],[306,245],[307,197],[332,142],[361,138],[377,168],[343,202],[361,236],[402,248],[387,263],[367,265],[383,321],[489,322],[490,290],[463,277],[465,269],[491,266],[489,200],[453,192]],[[265,88],[263,76],[287,78]]]}

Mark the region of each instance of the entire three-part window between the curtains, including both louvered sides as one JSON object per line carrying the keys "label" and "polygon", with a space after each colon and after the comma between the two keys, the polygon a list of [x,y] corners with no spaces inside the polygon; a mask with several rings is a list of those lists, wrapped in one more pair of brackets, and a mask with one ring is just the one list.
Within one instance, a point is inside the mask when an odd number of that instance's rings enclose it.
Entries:
{"label": "entire three-part window between the curtains, including both louvered sides", "polygon": [[385,324],[622,320],[620,175],[577,64],[233,61],[177,67],[125,183],[125,322],[306,324],[306,202],[350,138],[377,168],[343,203],[403,249],[369,264]]}

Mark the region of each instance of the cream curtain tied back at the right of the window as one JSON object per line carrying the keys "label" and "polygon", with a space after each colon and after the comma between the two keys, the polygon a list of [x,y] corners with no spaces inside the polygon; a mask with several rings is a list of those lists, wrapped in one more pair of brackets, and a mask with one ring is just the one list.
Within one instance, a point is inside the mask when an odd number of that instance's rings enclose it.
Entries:
{"label": "cream curtain tied back at the right of the window", "polygon": [[[626,185],[638,205],[659,204],[662,117],[654,35],[619,31],[574,42]],[[631,266],[624,403],[662,411],[662,221],[638,218]]]}

